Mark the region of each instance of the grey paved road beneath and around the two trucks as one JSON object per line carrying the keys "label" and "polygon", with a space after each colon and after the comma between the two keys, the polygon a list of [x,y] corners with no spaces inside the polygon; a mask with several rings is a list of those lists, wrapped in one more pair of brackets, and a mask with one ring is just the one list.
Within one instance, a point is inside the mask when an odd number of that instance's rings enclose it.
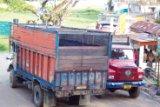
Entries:
{"label": "grey paved road beneath and around the two trucks", "polygon": [[[34,107],[30,90],[23,87],[17,89],[9,87],[9,73],[6,72],[9,61],[6,61],[6,56],[7,54],[0,54],[0,107]],[[117,91],[108,93],[101,99],[93,97],[87,107],[160,107],[159,105],[160,103],[143,92],[139,98],[131,99],[128,93]],[[61,103],[58,107],[70,106]]]}

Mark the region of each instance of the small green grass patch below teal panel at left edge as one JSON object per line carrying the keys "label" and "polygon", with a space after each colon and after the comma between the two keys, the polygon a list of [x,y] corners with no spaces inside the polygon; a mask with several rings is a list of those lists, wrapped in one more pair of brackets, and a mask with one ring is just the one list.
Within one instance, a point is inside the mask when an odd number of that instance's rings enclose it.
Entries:
{"label": "small green grass patch below teal panel at left edge", "polygon": [[9,51],[9,38],[5,36],[0,36],[0,52]]}

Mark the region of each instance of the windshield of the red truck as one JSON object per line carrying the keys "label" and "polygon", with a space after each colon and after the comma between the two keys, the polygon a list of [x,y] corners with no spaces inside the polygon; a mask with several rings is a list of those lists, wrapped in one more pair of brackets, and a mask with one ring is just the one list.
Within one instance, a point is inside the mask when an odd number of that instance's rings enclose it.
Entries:
{"label": "windshield of the red truck", "polygon": [[125,50],[125,49],[113,49],[112,50],[112,59],[131,59],[133,60],[133,51],[132,50]]}

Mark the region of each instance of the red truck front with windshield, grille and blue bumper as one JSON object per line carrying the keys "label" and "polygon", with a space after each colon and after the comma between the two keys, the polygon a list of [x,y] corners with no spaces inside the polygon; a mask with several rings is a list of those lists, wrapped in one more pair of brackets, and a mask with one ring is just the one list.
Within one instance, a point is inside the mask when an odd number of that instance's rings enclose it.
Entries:
{"label": "red truck front with windshield, grille and blue bumper", "polygon": [[130,97],[136,98],[140,93],[139,87],[144,85],[143,75],[143,70],[135,64],[133,48],[130,45],[112,45],[108,90],[127,90]]}

